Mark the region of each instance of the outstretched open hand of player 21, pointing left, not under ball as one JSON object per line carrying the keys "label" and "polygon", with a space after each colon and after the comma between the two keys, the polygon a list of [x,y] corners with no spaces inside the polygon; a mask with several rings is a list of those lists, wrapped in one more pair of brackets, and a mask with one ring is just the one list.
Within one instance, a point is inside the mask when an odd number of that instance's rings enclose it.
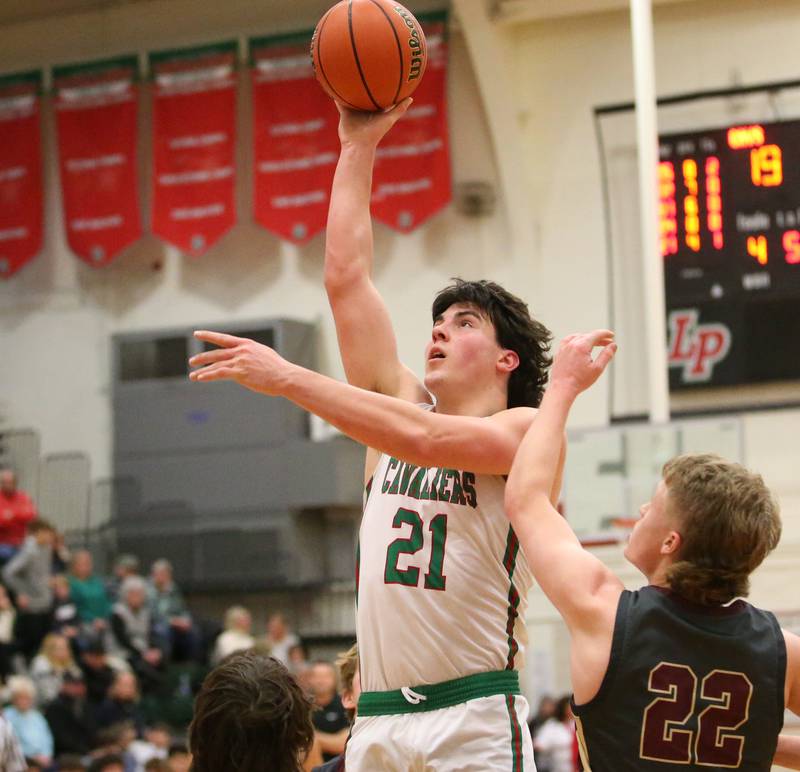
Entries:
{"label": "outstretched open hand of player 21, pointing left, not under ball", "polygon": [[199,368],[189,374],[191,380],[235,381],[261,394],[279,396],[283,393],[293,365],[269,346],[209,330],[198,330],[194,336],[219,348],[204,351],[189,360],[192,367]]}

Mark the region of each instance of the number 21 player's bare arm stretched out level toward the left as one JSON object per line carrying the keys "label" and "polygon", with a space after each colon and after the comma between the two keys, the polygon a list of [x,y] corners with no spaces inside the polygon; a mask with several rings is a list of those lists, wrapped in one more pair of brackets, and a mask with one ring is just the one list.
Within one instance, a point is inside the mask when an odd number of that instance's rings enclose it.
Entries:
{"label": "number 21 player's bare arm stretched out level toward the left", "polygon": [[[357,442],[418,466],[507,474],[536,414],[526,407],[485,418],[434,413],[294,365],[247,338],[207,331],[196,336],[220,348],[190,360],[200,367],[192,380],[232,380],[262,394],[286,397]],[[558,448],[561,442],[559,438]]]}

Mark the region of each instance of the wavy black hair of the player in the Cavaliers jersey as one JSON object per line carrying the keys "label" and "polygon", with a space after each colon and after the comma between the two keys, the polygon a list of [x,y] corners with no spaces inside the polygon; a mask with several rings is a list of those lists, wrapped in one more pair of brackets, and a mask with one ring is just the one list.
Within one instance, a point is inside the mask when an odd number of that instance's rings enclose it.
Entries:
{"label": "wavy black hair of the player in the Cavaliers jersey", "polygon": [[483,311],[494,325],[498,345],[519,357],[519,366],[508,379],[508,407],[538,407],[553,362],[548,356],[550,330],[531,317],[526,303],[492,281],[453,279],[433,299],[434,321],[453,303]]}

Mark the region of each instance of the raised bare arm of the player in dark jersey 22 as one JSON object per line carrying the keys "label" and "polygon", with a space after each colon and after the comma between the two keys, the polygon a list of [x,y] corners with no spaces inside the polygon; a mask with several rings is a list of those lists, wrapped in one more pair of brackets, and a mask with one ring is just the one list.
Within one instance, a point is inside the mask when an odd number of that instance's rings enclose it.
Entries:
{"label": "raised bare arm of the player in dark jersey 22", "polygon": [[[603,349],[596,360],[592,351]],[[622,582],[585,550],[551,502],[561,439],[578,394],[600,376],[615,346],[607,331],[562,343],[542,405],[520,444],[506,484],[506,512],[531,571],[573,632],[591,633],[616,608]]]}

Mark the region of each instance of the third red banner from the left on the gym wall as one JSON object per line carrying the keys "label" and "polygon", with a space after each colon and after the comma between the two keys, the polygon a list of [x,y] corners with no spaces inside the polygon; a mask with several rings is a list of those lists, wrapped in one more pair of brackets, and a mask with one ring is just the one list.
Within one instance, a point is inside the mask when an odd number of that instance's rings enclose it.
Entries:
{"label": "third red banner from the left on the gym wall", "polygon": [[153,232],[191,255],[236,224],[235,42],[150,55]]}

